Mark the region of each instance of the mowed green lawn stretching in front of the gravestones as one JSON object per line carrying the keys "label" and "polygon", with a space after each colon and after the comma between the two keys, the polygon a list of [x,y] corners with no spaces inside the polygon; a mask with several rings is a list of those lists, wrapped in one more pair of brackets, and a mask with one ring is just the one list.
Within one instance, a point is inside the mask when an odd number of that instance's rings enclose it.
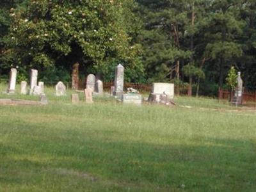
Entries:
{"label": "mowed green lawn stretching in front of the gravestones", "polygon": [[0,191],[256,190],[255,112],[184,97],[177,104],[192,108],[71,104],[71,92],[46,92],[47,106],[0,106]]}

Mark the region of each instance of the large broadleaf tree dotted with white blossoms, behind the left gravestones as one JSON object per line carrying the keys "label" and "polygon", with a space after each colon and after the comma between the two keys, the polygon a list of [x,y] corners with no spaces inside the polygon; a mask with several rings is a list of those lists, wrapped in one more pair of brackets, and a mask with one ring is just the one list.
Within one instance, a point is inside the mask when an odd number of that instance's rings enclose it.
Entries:
{"label": "large broadleaf tree dotted with white blossoms, behind the left gravestones", "polygon": [[[106,75],[118,63],[127,68],[127,79],[143,75],[140,44],[125,28],[127,6],[133,1],[29,1],[26,10],[12,10],[6,36],[7,63],[26,70],[55,68],[71,71],[80,63],[83,72]],[[125,14],[126,13],[126,14]],[[8,58],[8,59],[7,59]],[[132,72],[131,72],[132,71]],[[60,77],[61,78],[61,77]]]}

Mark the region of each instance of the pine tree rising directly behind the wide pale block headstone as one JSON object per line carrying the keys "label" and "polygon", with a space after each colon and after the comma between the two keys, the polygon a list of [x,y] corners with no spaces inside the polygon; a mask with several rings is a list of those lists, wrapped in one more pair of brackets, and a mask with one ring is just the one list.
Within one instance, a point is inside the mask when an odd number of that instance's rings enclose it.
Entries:
{"label": "pine tree rising directly behind the wide pale block headstone", "polygon": [[138,1],[145,29],[141,33],[148,81],[179,79],[180,60],[191,56],[183,47],[188,17],[186,1]]}

